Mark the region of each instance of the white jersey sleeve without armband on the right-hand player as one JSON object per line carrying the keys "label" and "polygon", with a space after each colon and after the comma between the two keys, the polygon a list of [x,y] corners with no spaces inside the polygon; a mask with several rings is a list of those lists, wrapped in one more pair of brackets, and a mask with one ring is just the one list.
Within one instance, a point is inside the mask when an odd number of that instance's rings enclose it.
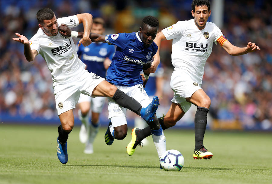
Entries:
{"label": "white jersey sleeve without armband on the right-hand player", "polygon": [[173,24],[172,26],[163,29],[162,33],[167,40],[172,40],[174,38],[182,36],[185,30],[184,28],[184,21],[178,21],[176,24]]}

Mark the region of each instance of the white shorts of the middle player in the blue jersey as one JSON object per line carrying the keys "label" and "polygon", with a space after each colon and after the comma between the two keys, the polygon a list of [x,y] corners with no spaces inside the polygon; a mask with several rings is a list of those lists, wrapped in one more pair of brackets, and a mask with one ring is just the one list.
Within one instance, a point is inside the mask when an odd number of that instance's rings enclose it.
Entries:
{"label": "white shorts of the middle player in the blue jersey", "polygon": [[[143,84],[137,84],[135,86],[116,86],[119,90],[123,91],[128,96],[137,100],[142,107],[147,107],[151,100],[146,94]],[[127,109],[119,106],[115,100],[108,97],[108,119],[117,116],[126,117]],[[112,121],[113,127],[121,126],[127,124],[127,121]]]}

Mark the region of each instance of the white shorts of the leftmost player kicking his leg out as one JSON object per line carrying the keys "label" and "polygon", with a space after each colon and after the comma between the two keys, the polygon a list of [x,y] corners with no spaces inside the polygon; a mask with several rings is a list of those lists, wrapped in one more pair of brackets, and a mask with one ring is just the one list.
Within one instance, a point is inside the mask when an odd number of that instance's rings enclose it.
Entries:
{"label": "white shorts of the leftmost player kicking his leg out", "polygon": [[53,87],[58,115],[76,107],[80,93],[92,95],[94,88],[106,80],[94,73],[84,70],[79,78],[65,84],[57,84]]}

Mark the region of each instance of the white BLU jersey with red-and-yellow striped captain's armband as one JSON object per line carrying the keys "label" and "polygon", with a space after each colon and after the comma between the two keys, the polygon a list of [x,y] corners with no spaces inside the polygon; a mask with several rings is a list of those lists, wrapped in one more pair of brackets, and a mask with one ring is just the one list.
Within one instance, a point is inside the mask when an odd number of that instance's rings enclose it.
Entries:
{"label": "white BLU jersey with red-and-yellow striped captain's armband", "polygon": [[199,30],[194,19],[191,19],[178,21],[162,32],[167,40],[173,39],[172,64],[175,70],[189,74],[198,84],[202,84],[204,66],[212,52],[212,43],[217,44],[223,36],[221,30],[212,22],[207,22],[206,27]]}

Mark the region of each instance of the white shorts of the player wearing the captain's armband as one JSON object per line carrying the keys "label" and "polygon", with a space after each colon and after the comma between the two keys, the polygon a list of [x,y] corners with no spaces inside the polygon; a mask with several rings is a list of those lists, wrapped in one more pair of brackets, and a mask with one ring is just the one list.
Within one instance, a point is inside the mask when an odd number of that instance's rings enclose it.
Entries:
{"label": "white shorts of the player wearing the captain's armband", "polygon": [[187,102],[185,98],[191,97],[194,92],[201,89],[201,85],[194,81],[188,74],[180,70],[174,70],[171,76],[170,86],[174,91],[174,97],[171,102],[180,104],[186,113],[192,103]]}

